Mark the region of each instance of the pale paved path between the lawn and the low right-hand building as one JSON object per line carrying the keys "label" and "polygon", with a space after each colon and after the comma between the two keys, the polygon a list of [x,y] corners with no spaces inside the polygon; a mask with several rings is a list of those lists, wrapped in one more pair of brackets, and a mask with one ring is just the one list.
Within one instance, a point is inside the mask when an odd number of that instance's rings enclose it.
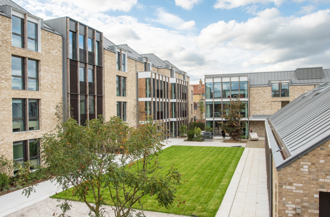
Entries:
{"label": "pale paved path between the lawn and the low right-hand building", "polygon": [[215,217],[269,216],[265,152],[245,148]]}

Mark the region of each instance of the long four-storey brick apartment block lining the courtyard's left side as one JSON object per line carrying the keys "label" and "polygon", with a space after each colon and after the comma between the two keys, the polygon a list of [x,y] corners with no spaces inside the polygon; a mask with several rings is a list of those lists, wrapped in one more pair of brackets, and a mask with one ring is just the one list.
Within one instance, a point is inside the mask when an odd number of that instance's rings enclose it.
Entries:
{"label": "long four-storey brick apartment block lining the courtyard's left side", "polygon": [[0,153],[8,158],[40,164],[36,141],[56,126],[61,102],[65,119],[80,125],[102,115],[137,126],[153,115],[173,137],[192,118],[187,73],[154,54],[70,17],[44,21],[11,0],[0,0],[0,23]]}

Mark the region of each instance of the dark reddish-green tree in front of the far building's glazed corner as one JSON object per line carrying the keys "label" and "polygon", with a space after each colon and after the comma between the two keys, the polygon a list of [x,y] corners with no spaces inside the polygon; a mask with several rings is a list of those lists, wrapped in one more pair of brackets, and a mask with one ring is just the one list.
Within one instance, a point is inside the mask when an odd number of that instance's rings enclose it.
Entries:
{"label": "dark reddish-green tree in front of the far building's glazed corner", "polygon": [[244,121],[242,121],[243,116],[240,112],[244,109],[244,104],[240,100],[240,96],[230,99],[229,105],[226,104],[224,108],[222,118],[227,122],[221,122],[222,128],[234,140],[241,140]]}

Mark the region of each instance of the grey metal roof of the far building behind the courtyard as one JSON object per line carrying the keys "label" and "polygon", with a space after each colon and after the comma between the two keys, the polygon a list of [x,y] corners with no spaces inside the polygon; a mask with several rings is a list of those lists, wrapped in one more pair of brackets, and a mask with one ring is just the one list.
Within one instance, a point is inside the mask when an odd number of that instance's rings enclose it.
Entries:
{"label": "grey metal roof of the far building behind the courtyard", "polygon": [[[315,76],[315,74],[318,73],[320,74],[323,73],[322,78]],[[269,81],[279,81],[279,80],[282,81],[289,80],[291,81],[291,85],[321,84],[324,82],[330,82],[330,70],[322,69],[322,67],[296,69],[295,71],[205,75],[205,77],[229,77],[229,76],[248,76],[250,86],[269,86]],[[299,78],[303,78],[303,79],[299,79]]]}

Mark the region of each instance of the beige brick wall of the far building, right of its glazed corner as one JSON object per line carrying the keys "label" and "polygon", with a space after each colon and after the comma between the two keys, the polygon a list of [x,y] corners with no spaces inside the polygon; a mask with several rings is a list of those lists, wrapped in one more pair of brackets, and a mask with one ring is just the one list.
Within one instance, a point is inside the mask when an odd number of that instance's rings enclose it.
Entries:
{"label": "beige brick wall of the far building, right of its glazed corner", "polygon": [[292,101],[314,89],[314,85],[290,86],[289,97],[271,97],[271,87],[250,87],[250,114],[272,115],[281,109],[282,101]]}

